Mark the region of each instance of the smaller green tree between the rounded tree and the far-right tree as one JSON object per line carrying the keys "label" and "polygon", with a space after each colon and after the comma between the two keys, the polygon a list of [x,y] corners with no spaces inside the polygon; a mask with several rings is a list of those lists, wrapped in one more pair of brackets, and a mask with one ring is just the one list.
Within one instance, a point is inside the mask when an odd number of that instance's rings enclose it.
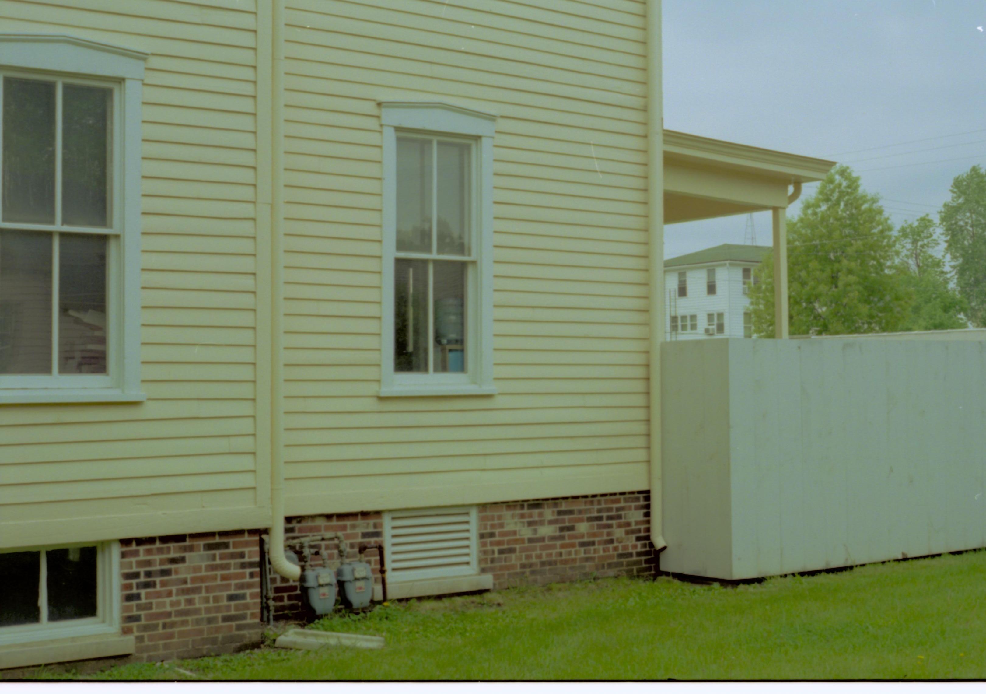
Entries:
{"label": "smaller green tree between the rounded tree and the far-right tree", "polygon": [[928,215],[900,225],[900,271],[904,284],[914,293],[910,315],[902,330],[953,330],[967,326],[968,303],[949,281],[935,222]]}

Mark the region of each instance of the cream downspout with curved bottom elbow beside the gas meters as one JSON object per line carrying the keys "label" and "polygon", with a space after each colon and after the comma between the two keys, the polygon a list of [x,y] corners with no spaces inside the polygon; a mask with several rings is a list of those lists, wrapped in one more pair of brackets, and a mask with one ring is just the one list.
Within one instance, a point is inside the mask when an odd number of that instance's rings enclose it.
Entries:
{"label": "cream downspout with curved bottom elbow beside the gas meters", "polygon": [[[284,0],[271,13],[271,172],[270,182],[270,544],[274,571],[298,581],[302,570],[284,557]],[[262,20],[261,20],[262,21]]]}

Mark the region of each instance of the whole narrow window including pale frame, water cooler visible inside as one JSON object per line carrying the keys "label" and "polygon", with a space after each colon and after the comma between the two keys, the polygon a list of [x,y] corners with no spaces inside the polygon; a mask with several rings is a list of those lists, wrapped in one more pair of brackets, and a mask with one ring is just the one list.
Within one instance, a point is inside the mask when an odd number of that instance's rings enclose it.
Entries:
{"label": "whole narrow window including pale frame, water cooler visible inside", "polygon": [[381,109],[381,395],[491,393],[493,118],[445,104]]}

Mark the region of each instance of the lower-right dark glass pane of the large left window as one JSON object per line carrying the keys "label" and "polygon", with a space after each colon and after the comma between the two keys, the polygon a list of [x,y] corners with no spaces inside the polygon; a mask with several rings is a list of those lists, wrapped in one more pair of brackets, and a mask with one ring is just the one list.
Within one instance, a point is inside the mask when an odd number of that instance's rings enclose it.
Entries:
{"label": "lower-right dark glass pane of the large left window", "polygon": [[59,374],[106,374],[106,243],[59,235]]}

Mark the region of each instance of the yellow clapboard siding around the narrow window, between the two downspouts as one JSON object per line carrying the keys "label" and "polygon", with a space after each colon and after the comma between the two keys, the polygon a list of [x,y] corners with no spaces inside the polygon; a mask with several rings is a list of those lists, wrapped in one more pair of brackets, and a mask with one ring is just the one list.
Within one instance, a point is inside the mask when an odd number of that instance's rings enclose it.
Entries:
{"label": "yellow clapboard siding around the narrow window, between the two downspouts", "polygon": [[[647,487],[643,4],[289,0],[290,515]],[[499,115],[493,397],[377,397],[378,101]]]}

